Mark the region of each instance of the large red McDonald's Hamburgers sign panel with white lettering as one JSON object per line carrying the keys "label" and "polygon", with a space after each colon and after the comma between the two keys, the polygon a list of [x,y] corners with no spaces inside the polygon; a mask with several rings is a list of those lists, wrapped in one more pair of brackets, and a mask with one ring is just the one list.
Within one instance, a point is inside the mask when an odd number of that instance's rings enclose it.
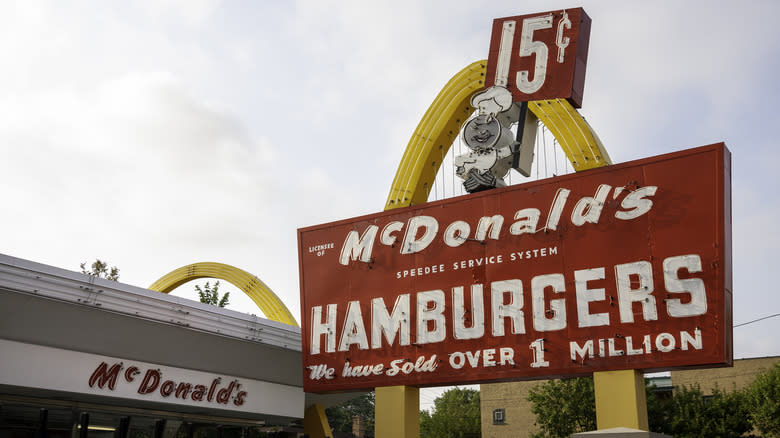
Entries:
{"label": "large red McDonald's Hamburgers sign panel with white lettering", "polygon": [[300,229],[304,389],[730,364],[729,169],[720,143]]}

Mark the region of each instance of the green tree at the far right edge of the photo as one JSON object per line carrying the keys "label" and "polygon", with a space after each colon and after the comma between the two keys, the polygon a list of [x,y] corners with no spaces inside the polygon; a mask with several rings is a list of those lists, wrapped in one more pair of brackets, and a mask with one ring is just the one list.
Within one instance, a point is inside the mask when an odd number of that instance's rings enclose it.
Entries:
{"label": "green tree at the far right edge of the photo", "polygon": [[756,376],[745,398],[756,429],[766,436],[780,436],[780,363]]}

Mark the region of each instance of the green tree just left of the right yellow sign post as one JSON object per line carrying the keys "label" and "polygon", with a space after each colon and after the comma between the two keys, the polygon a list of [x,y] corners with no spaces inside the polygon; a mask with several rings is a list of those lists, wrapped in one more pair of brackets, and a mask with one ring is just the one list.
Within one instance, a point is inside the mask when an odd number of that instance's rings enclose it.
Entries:
{"label": "green tree just left of the right yellow sign post", "polygon": [[531,412],[542,431],[534,437],[568,437],[596,429],[593,378],[548,380],[528,392]]}

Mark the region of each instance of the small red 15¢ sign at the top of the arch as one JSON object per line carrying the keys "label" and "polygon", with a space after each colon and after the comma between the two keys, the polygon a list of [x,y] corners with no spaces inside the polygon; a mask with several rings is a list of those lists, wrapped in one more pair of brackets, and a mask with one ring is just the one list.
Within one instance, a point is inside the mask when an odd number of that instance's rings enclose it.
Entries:
{"label": "small red 15\u00a2 sign at the top of the arch", "polygon": [[580,108],[590,21],[582,8],[495,19],[485,85],[515,101],[565,98]]}

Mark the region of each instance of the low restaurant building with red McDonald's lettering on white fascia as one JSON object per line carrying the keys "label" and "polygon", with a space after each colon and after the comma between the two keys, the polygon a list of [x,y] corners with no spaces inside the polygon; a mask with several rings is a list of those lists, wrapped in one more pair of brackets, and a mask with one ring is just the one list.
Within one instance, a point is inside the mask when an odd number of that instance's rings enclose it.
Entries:
{"label": "low restaurant building with red McDonald's lettering on white fascia", "polygon": [[301,366],[298,327],[0,254],[0,438],[264,436],[354,397]]}

